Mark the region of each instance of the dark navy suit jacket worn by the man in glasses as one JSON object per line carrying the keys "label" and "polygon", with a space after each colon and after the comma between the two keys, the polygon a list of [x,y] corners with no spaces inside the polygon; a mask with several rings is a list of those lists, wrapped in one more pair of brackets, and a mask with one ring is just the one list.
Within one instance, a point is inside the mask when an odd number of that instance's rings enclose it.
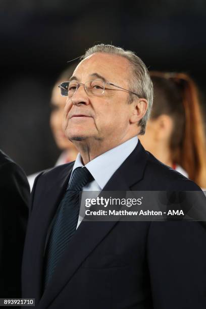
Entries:
{"label": "dark navy suit jacket worn by the man in glasses", "polygon": [[[42,294],[46,236],[73,163],[35,181],[27,230],[23,297],[36,308],[205,309],[206,231],[199,222],[82,221]],[[104,190],[200,190],[138,142]]]}

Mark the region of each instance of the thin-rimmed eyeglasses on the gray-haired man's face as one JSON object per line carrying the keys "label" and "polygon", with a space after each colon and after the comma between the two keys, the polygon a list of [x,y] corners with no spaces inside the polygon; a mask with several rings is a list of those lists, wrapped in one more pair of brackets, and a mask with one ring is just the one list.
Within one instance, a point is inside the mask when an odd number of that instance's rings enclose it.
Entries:
{"label": "thin-rimmed eyeglasses on the gray-haired man's face", "polygon": [[87,94],[102,95],[105,92],[105,89],[106,90],[112,90],[111,88],[105,88],[105,85],[110,85],[110,86],[114,86],[114,87],[120,88],[122,90],[125,90],[127,92],[130,92],[132,94],[135,94],[139,97],[139,95],[135,92],[124,89],[120,86],[114,85],[114,84],[112,84],[108,81],[104,81],[104,80],[101,80],[101,79],[95,79],[95,80],[87,81],[84,84],[83,83],[77,83],[76,81],[63,82],[58,87],[60,88],[62,96],[72,97],[77,92],[77,89],[80,87],[80,85],[84,86]]}

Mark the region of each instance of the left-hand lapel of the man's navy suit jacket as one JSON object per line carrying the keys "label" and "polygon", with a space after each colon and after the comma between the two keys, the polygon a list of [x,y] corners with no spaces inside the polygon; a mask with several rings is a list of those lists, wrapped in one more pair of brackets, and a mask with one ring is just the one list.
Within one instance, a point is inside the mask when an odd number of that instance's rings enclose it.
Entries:
{"label": "left-hand lapel of the man's navy suit jacket", "polygon": [[[32,278],[29,280],[29,290],[33,292],[36,303],[41,296],[43,255],[47,232],[66,190],[72,168],[71,164],[67,166],[59,178],[55,179],[54,184],[49,183],[49,187],[43,188],[41,194],[35,197],[36,207],[33,209],[32,220],[27,231],[26,260],[34,261],[28,269],[27,278]],[[41,185],[43,187],[43,184]]]}

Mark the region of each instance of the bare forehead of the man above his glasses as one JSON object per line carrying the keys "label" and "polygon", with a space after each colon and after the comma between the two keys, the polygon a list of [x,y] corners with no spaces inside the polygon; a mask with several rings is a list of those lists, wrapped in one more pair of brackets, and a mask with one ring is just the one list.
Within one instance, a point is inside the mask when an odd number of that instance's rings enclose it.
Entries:
{"label": "bare forehead of the man above his glasses", "polygon": [[94,73],[110,82],[125,81],[125,84],[128,84],[130,63],[119,55],[95,53],[80,62],[73,75],[81,81],[86,81]]}

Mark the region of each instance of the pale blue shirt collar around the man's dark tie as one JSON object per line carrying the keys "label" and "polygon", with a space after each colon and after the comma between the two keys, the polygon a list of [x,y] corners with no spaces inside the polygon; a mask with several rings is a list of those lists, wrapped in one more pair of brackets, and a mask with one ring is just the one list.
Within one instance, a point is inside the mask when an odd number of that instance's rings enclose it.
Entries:
{"label": "pale blue shirt collar around the man's dark tie", "polygon": [[[100,156],[94,158],[85,165],[101,189],[105,187],[112,175],[122,165],[127,157],[129,157],[137,143],[138,137],[134,136],[115,148],[102,153]],[[77,159],[72,169],[72,174],[78,167],[84,167],[80,153],[77,155]]]}

